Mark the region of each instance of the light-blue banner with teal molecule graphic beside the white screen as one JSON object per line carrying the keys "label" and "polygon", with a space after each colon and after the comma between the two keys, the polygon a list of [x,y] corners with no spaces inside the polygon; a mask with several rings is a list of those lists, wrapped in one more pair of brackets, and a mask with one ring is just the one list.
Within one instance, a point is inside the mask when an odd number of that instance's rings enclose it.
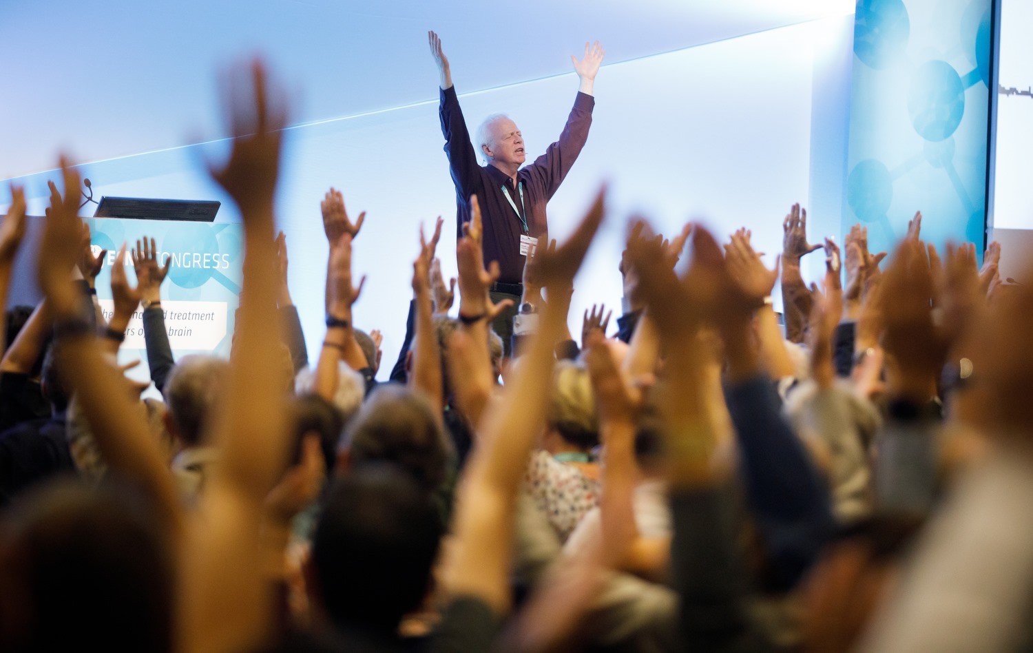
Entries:
{"label": "light-blue banner with teal molecule graphic beside the white screen", "polygon": [[[945,12],[951,0],[910,0],[907,4],[915,15],[920,13],[918,8],[927,14],[936,14]],[[911,20],[902,0],[857,2],[854,55],[866,69],[854,72],[854,93],[859,98],[855,96],[851,107],[852,151],[846,200],[853,215],[874,228],[874,240],[880,241],[882,248],[896,240],[889,219],[895,191],[901,200],[895,207],[895,218],[910,217],[910,213],[896,215],[904,204],[914,203],[913,208],[909,207],[913,213],[940,201],[935,219],[941,225],[957,225],[947,232],[952,230],[956,237],[960,236],[958,231],[964,225],[966,240],[981,243],[984,163],[980,168],[972,161],[980,156],[985,160],[987,125],[985,121],[980,124],[977,120],[963,125],[963,118],[966,110],[974,112],[973,117],[987,112],[991,72],[990,0],[971,2],[962,12],[961,28],[948,34],[949,38],[936,38],[941,34],[930,38],[929,30],[916,29]],[[916,42],[919,32],[932,42]],[[913,60],[908,53],[920,59]],[[970,67],[959,71],[948,59]],[[901,84],[906,86],[902,88]],[[904,99],[906,102],[901,101]],[[910,155],[899,151],[902,145],[914,139],[913,134],[902,133],[903,121],[921,143],[920,151]],[[967,159],[964,167],[959,164],[961,155]],[[922,170],[920,166],[928,167]],[[939,177],[930,177],[931,169],[938,170]],[[979,175],[974,170],[980,170]],[[907,180],[912,173],[926,174]],[[944,215],[947,210],[942,201],[947,195],[957,196],[948,207],[954,215]]]}

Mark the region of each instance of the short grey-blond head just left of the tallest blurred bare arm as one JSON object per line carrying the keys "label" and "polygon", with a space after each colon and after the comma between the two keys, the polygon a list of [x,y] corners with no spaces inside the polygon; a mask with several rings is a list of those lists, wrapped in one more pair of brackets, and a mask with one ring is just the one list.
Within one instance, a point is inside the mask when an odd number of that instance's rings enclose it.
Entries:
{"label": "short grey-blond head just left of the tallest blurred bare arm", "polygon": [[183,445],[201,443],[222,388],[229,363],[210,355],[183,356],[165,382],[168,431]]}

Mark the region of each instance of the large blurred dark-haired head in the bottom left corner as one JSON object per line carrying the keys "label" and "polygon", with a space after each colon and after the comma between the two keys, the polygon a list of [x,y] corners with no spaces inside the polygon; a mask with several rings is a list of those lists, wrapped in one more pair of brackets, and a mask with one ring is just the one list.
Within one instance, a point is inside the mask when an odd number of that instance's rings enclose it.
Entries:
{"label": "large blurred dark-haired head in the bottom left corner", "polygon": [[173,650],[168,533],[128,487],[22,498],[0,531],[0,649]]}

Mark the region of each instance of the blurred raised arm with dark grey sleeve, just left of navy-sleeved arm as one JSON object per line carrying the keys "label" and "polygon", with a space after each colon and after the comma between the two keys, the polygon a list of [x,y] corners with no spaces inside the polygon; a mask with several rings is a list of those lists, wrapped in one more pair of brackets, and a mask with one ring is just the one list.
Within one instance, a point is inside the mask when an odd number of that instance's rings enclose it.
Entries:
{"label": "blurred raised arm with dark grey sleeve, just left of navy-sleeved arm", "polygon": [[[684,646],[706,651],[756,650],[747,612],[747,584],[737,550],[733,505],[721,490],[724,470],[715,465],[721,434],[709,417],[707,356],[700,338],[713,313],[720,250],[697,227],[692,265],[682,279],[659,265],[656,241],[631,239],[628,258],[641,275],[647,310],[667,352],[665,382],[657,397],[669,461],[675,535],[674,587],[681,595]],[[677,298],[677,301],[671,301]]]}

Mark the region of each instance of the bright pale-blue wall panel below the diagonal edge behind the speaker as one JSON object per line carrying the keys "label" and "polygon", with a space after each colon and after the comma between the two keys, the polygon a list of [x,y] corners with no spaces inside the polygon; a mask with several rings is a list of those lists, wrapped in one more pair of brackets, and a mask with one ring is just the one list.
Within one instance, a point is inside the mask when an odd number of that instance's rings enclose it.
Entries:
{"label": "bright pale-blue wall panel below the diagonal edge behind the speaker", "polygon": [[[413,29],[413,38],[426,38],[421,34]],[[442,37],[455,42],[462,34],[442,28]],[[580,333],[582,311],[593,303],[619,312],[618,261],[632,212],[667,234],[690,218],[720,236],[746,226],[770,262],[781,249],[782,218],[794,201],[810,208],[812,240],[840,234],[852,37],[853,18],[844,12],[602,68],[588,145],[550,204],[553,235],[562,239],[600,182],[611,183],[607,221],[576,281],[572,333]],[[446,232],[455,234],[437,75],[426,53],[405,65],[424,67],[426,101],[308,123],[287,133],[278,219],[310,353],[318,350],[324,330],[326,243],[319,200],[331,185],[343,189],[351,211],[369,212],[354,257],[355,272],[368,274],[369,281],[355,315],[358,326],[383,332],[384,361],[397,355],[404,334],[417,226],[430,227],[442,215]],[[543,151],[563,126],[576,76],[477,90],[464,74],[474,65],[451,57],[471,131],[484,116],[506,112],[523,130],[531,156]],[[81,172],[98,195],[221,199],[218,222],[233,222],[239,216],[228,197],[204,173],[206,159],[226,151],[226,142],[213,142],[83,164]],[[20,180],[33,213],[42,212],[49,178],[53,172]],[[439,255],[445,274],[453,274],[447,238]],[[809,259],[816,280],[820,256]]]}

